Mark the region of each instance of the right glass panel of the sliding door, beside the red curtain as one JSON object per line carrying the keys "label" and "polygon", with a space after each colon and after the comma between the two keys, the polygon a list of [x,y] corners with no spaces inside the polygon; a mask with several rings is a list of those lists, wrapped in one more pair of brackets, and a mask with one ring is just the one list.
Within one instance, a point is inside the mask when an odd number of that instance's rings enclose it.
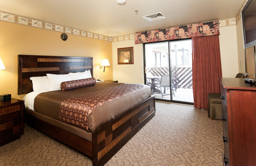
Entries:
{"label": "right glass panel of the sliding door, beside the red curtain", "polygon": [[173,95],[172,100],[194,103],[192,87],[192,41],[170,42]]}

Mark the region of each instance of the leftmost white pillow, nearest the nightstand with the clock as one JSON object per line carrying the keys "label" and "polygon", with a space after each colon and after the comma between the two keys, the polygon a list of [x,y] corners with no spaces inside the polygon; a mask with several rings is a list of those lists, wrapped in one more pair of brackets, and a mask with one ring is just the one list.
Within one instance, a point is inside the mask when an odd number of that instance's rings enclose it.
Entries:
{"label": "leftmost white pillow, nearest the nightstand with the clock", "polygon": [[33,91],[50,90],[50,82],[47,76],[30,77],[33,83]]}

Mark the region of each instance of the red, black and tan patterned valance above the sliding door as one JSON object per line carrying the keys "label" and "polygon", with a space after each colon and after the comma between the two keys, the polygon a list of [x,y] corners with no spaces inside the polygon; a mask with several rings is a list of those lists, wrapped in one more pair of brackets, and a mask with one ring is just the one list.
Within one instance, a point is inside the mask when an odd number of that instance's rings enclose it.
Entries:
{"label": "red, black and tan patterned valance above the sliding door", "polygon": [[175,26],[135,33],[135,44],[219,35],[219,21]]}

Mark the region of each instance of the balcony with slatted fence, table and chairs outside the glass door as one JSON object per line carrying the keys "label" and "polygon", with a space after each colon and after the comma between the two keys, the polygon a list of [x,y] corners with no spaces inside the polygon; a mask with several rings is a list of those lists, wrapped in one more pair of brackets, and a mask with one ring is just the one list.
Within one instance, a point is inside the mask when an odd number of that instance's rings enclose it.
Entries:
{"label": "balcony with slatted fence, table and chairs outside the glass door", "polygon": [[[149,67],[146,68],[147,84],[151,86],[152,94],[155,94],[156,99],[171,100],[182,102],[194,102],[193,86],[192,86],[192,68],[191,67],[173,67],[171,68],[171,85],[165,82],[163,85],[163,76],[170,78],[168,67]],[[162,79],[162,80],[161,80]],[[152,81],[154,83],[152,84]],[[169,84],[168,84],[169,83]],[[168,86],[169,85],[169,86]],[[154,89],[154,90],[153,90]],[[162,95],[163,94],[163,95]]]}

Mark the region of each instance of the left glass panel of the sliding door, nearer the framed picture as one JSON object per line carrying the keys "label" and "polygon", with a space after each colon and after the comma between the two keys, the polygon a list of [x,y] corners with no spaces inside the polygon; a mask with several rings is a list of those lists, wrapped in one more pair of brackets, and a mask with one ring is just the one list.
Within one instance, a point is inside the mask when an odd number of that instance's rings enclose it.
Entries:
{"label": "left glass panel of the sliding door, nearer the framed picture", "polygon": [[150,43],[144,46],[145,84],[151,87],[151,93],[156,95],[156,99],[171,100],[169,43]]}

